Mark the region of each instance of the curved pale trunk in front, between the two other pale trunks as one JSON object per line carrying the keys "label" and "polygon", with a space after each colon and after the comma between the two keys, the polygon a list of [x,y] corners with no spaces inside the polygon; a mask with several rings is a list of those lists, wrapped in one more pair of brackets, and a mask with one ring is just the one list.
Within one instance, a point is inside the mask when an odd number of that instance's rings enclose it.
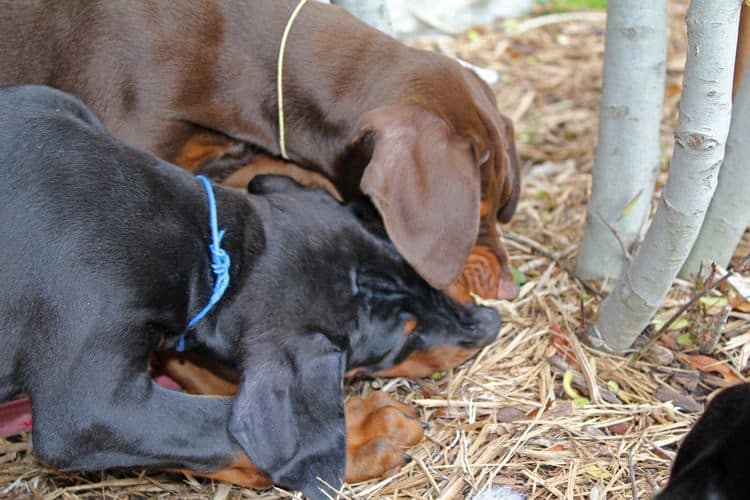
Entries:
{"label": "curved pale trunk in front, between the two other pale trunks", "polygon": [[[615,3],[615,2],[612,2]],[[632,264],[599,310],[595,345],[622,352],[648,325],[700,231],[729,132],[741,0],[692,0],[669,179]]]}

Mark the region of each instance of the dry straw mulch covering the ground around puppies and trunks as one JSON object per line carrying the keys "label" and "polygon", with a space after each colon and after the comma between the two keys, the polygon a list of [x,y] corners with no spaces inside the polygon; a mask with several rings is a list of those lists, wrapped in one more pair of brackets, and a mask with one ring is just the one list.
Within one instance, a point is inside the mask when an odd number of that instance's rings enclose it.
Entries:
{"label": "dry straw mulch covering the ground around puppies and trunks", "polygon": [[[665,159],[685,53],[684,5],[670,9]],[[476,359],[442,377],[350,387],[350,393],[391,392],[419,408],[431,429],[401,472],[347,486],[344,497],[452,499],[505,488],[528,498],[616,499],[634,492],[650,498],[664,485],[676,446],[707,397],[746,372],[750,334],[741,333],[750,316],[740,311],[732,311],[718,346],[709,349],[706,359],[717,360],[714,366],[690,357],[695,345],[680,345],[685,335],[716,330],[719,313],[710,303],[691,309],[686,326],[669,332],[634,367],[579,340],[601,302],[570,270],[590,190],[604,20],[544,19],[562,22],[530,18],[416,42],[502,75],[495,89],[516,123],[524,164],[523,197],[506,243],[528,282],[515,302],[498,305],[500,338]],[[689,283],[675,286],[660,317],[688,300],[690,290]],[[725,367],[723,374],[709,371],[717,366]],[[568,390],[566,372],[572,376]],[[0,440],[0,464],[0,496],[14,498],[289,496],[158,471],[58,473],[34,461],[28,437]]]}

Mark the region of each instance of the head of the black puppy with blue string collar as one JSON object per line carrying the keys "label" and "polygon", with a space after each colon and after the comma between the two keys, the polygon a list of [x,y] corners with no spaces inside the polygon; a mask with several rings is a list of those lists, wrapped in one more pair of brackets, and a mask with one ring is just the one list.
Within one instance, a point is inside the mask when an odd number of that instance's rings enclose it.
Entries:
{"label": "head of the black puppy with blue string collar", "polygon": [[252,334],[230,431],[271,479],[315,495],[317,477],[334,487],[343,478],[348,370],[424,376],[455,366],[495,339],[500,318],[430,287],[366,204],[342,206],[283,177],[249,189],[266,243],[243,285]]}

